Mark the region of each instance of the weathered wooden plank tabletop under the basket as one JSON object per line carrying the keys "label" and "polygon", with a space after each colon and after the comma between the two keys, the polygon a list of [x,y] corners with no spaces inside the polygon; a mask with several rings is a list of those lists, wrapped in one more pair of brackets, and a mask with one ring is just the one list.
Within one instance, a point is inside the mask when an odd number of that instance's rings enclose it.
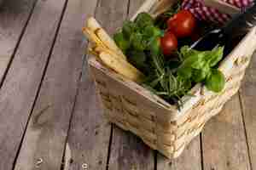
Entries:
{"label": "weathered wooden plank tabletop under the basket", "polygon": [[[143,0],[9,0],[0,9],[0,170],[256,169],[256,58],[239,94],[168,161],[102,117],[81,28],[113,33]],[[254,106],[255,105],[255,106]]]}

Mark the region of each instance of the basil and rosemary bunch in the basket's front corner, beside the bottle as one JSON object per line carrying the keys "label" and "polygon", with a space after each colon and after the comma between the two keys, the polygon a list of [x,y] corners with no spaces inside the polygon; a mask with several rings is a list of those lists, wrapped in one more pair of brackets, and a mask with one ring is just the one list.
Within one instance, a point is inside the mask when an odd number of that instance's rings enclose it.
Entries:
{"label": "basil and rosemary bunch in the basket's front corner, beside the bottle", "polygon": [[166,61],[161,53],[151,53],[154,71],[147,78],[146,87],[177,105],[182,105],[181,98],[197,82],[205,83],[209,90],[218,93],[225,83],[223,73],[216,68],[223,52],[223,47],[211,51],[196,51],[183,46],[177,52],[179,61],[176,62]]}

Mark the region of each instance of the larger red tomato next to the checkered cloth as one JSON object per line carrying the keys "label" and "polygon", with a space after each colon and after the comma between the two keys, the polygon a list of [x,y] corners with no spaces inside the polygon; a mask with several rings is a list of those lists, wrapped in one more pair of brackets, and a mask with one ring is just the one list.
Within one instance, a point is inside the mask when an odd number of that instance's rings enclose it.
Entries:
{"label": "larger red tomato next to the checkered cloth", "polygon": [[178,37],[189,37],[195,29],[195,17],[189,10],[180,10],[167,21],[168,29]]}

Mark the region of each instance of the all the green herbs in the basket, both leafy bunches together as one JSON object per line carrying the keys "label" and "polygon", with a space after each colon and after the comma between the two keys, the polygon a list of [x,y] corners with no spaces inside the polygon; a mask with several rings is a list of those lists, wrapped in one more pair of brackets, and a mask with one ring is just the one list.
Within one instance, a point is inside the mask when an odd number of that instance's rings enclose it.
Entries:
{"label": "all the green herbs in the basket, both leafy bunches together", "polygon": [[129,62],[145,74],[145,88],[178,106],[182,105],[183,95],[197,82],[205,83],[213,92],[224,88],[224,75],[216,68],[223,58],[224,48],[196,51],[183,46],[177,51],[177,58],[167,59],[160,49],[163,35],[164,31],[155,26],[151,16],[142,13],[134,22],[125,21],[123,28],[113,36]]}

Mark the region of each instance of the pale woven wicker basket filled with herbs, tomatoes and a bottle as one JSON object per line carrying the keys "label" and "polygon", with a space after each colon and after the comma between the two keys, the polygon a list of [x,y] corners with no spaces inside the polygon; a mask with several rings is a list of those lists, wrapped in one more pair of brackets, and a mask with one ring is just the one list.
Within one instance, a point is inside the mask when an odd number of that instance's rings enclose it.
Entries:
{"label": "pale woven wicker basket filled with herbs, tomatoes and a bottle", "polygon": [[[147,11],[155,16],[172,3],[172,0],[148,0],[137,14]],[[254,27],[219,65],[219,70],[226,78],[221,93],[212,93],[200,83],[196,84],[190,92],[195,97],[184,96],[184,105],[180,111],[136,82],[111,71],[95,57],[89,59],[90,71],[108,120],[137,134],[152,149],[159,150],[168,158],[175,158],[191,139],[201,133],[205,123],[217,115],[231,96],[236,94],[256,48],[255,40]]]}

